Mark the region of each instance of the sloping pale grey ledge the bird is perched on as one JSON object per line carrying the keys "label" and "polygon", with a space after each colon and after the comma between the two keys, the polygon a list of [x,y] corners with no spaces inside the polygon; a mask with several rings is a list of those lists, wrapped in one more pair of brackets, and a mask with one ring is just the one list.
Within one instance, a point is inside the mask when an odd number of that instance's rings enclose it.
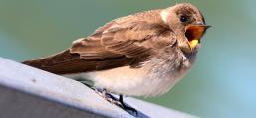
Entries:
{"label": "sloping pale grey ledge the bird is perched on", "polygon": [[[0,58],[1,118],[133,118],[72,79]],[[195,118],[133,98],[125,102],[140,118]]]}

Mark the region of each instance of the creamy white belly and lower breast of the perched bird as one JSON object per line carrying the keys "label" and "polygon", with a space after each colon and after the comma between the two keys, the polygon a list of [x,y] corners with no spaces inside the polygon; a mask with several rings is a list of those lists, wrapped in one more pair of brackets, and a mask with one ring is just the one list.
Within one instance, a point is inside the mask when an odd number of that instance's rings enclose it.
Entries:
{"label": "creamy white belly and lower breast of the perched bird", "polygon": [[170,90],[191,66],[188,61],[183,62],[186,66],[183,69],[180,69],[179,62],[169,64],[166,59],[152,61],[154,63],[147,62],[140,68],[124,66],[79,76],[92,80],[96,87],[105,88],[112,93],[128,96],[156,96]]}

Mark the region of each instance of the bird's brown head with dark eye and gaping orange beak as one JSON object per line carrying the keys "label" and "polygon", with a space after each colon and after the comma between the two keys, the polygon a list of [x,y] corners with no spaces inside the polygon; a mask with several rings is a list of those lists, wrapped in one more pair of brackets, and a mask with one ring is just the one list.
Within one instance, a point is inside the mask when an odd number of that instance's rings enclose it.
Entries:
{"label": "bird's brown head with dark eye and gaping orange beak", "polygon": [[190,3],[163,9],[161,18],[176,34],[178,46],[186,54],[197,52],[203,34],[210,27],[202,13]]}

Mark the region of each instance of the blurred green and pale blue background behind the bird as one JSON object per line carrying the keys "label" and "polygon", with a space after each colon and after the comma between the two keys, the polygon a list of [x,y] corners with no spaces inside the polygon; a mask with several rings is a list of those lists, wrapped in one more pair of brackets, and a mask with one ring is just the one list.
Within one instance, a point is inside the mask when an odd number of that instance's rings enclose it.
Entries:
{"label": "blurred green and pale blue background behind the bird", "polygon": [[180,2],[196,5],[213,27],[187,76],[142,99],[205,118],[255,118],[255,0],[0,0],[0,57],[46,57],[114,18]]}

